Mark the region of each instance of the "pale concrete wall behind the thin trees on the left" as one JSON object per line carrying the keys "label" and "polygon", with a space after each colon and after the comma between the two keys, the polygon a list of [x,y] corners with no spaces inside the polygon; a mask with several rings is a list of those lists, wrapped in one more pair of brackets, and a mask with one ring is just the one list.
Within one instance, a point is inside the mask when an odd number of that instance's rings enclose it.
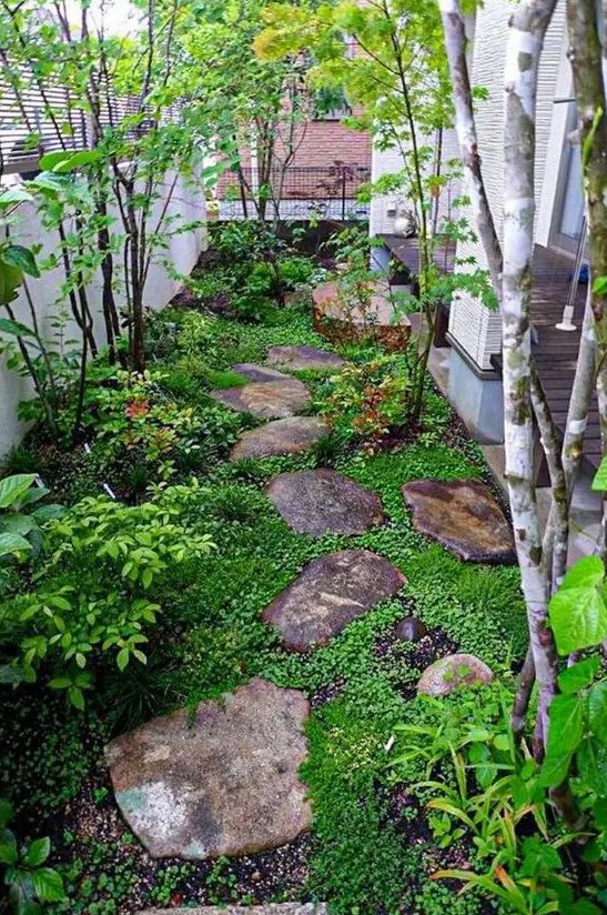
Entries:
{"label": "pale concrete wall behind the thin trees on the left", "polygon": [[[173,179],[174,175],[166,175],[164,183],[166,193],[169,193],[172,187]],[[152,227],[155,227],[158,222],[164,205],[164,200],[161,199],[156,203],[155,219],[150,219]],[[41,244],[42,252],[39,254],[39,259],[43,258],[44,253],[48,253],[54,248],[54,239],[50,238],[49,233],[42,228],[40,218],[36,212],[36,207],[32,204],[22,204],[19,214],[22,221],[18,229],[13,231],[16,241],[19,240],[26,245]],[[170,224],[171,232],[174,232],[180,223],[204,220],[205,204],[201,190],[193,188],[183,179],[178,179],[166,215],[175,220],[175,222],[171,222]],[[19,239],[17,238],[18,235]],[[204,247],[205,232],[202,229],[173,235],[169,239],[168,249],[158,252],[155,258],[156,262],[150,268],[145,285],[146,308],[163,308],[181,285],[179,280],[172,279],[169,275],[161,261],[168,260],[171,262],[174,271],[181,274],[188,274],[196,263],[199,254],[204,250]],[[120,280],[120,272],[117,272],[119,273]],[[60,270],[53,270],[44,272],[39,280],[31,278],[28,280],[40,326],[49,338],[53,333],[53,318],[57,316],[58,311],[61,309],[61,305],[57,304],[57,300],[60,298],[61,278],[62,272]],[[124,303],[124,293],[118,282],[115,294],[118,304],[121,306]],[[89,300],[92,305],[101,301],[100,276],[97,276],[89,286]],[[13,302],[13,309],[18,320],[22,320],[26,324],[30,323],[27,302],[22,293],[19,299]],[[95,335],[98,342],[101,344],[104,340],[104,331],[99,304],[95,312]],[[74,336],[73,323],[68,322],[65,339],[73,339]],[[0,456],[6,454],[7,451],[22,438],[24,426],[17,418],[17,408],[20,401],[29,399],[31,394],[32,386],[29,379],[20,378],[16,372],[7,369],[6,360],[0,356]]]}

